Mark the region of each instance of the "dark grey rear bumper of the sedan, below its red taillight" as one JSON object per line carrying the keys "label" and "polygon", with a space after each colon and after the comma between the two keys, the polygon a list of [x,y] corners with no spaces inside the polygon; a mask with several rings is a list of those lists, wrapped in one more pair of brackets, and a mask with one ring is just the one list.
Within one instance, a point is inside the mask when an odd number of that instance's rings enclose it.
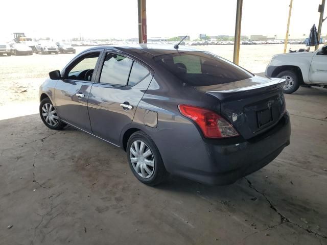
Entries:
{"label": "dark grey rear bumper of the sedan, below its red taillight", "polygon": [[193,149],[181,148],[185,160],[166,168],[172,174],[209,185],[231,184],[274,160],[290,144],[290,135],[286,112],[274,128],[250,140],[227,145],[203,141],[204,145],[199,143]]}

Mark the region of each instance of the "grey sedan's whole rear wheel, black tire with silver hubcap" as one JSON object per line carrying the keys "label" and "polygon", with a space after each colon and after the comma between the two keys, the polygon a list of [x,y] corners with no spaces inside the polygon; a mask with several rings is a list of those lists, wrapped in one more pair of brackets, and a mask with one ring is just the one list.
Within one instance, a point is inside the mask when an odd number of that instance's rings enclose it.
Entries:
{"label": "grey sedan's whole rear wheel, black tire with silver hubcap", "polygon": [[128,139],[127,158],[134,176],[144,184],[158,185],[169,175],[157,146],[142,131],[133,133]]}

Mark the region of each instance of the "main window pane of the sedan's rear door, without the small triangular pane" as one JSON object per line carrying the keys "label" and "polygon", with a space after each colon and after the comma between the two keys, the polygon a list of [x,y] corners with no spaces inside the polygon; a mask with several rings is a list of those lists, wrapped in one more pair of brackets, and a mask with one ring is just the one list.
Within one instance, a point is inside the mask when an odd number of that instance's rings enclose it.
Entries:
{"label": "main window pane of the sedan's rear door, without the small triangular pane", "polygon": [[133,60],[116,54],[107,54],[100,76],[100,83],[126,85]]}

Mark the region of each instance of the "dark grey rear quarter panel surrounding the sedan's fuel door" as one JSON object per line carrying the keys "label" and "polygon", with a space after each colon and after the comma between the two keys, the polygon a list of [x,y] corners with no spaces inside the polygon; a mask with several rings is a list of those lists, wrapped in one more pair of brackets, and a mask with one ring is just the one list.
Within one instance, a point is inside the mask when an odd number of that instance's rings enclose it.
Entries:
{"label": "dark grey rear quarter panel surrounding the sedan's fuel door", "polygon": [[[141,129],[153,139],[166,169],[172,174],[185,168],[198,169],[197,163],[208,159],[202,133],[191,119],[180,114],[179,104],[205,107],[218,113],[220,110],[219,100],[183,85],[167,72],[162,76],[156,72],[128,126]],[[156,128],[145,126],[146,110],[158,113]]]}

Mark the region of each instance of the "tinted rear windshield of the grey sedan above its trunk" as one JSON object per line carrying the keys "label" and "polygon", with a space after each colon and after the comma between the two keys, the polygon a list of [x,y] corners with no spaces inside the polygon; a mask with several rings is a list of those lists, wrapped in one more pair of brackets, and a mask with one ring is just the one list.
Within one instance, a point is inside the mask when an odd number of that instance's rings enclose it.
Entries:
{"label": "tinted rear windshield of the grey sedan above its trunk", "polygon": [[160,55],[154,60],[192,86],[230,83],[253,77],[247,70],[207,52]]}

